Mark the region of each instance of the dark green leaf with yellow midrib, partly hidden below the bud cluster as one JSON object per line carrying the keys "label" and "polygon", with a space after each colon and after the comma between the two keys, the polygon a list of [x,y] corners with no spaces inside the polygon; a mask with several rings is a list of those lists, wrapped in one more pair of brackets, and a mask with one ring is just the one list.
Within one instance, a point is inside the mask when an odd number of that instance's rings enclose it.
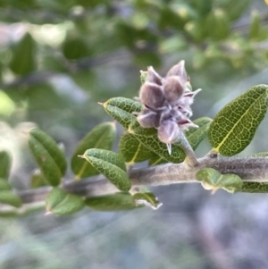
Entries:
{"label": "dark green leaf with yellow midrib, partly hidden below the bud cluster", "polygon": [[125,161],[129,164],[148,160],[154,152],[145,147],[133,134],[125,133],[119,141],[119,149]]}

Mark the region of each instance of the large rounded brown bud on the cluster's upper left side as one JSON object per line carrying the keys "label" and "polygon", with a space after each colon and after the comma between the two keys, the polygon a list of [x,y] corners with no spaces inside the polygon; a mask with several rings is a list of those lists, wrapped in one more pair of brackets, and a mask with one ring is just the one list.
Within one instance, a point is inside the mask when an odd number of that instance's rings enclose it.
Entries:
{"label": "large rounded brown bud on the cluster's upper left side", "polygon": [[163,106],[163,86],[146,82],[139,90],[139,100],[147,108],[159,110]]}

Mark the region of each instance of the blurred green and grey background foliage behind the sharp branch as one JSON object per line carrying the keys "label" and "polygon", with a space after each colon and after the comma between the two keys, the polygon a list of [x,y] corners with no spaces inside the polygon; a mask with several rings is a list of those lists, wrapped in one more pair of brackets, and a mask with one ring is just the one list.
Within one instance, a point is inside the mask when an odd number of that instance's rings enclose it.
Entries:
{"label": "blurred green and grey background foliage behind the sharp branch", "polygon": [[[97,102],[138,96],[149,65],[164,75],[186,61],[193,88],[203,88],[194,119],[268,84],[260,0],[1,0],[0,21],[0,148],[13,154],[18,189],[29,188],[35,168],[23,130],[38,124],[71,157],[88,130],[111,120]],[[244,155],[267,150],[265,126]],[[209,149],[205,142],[197,155]],[[0,267],[268,267],[266,195],[211,196],[196,185],[154,191],[157,211],[1,219]]]}

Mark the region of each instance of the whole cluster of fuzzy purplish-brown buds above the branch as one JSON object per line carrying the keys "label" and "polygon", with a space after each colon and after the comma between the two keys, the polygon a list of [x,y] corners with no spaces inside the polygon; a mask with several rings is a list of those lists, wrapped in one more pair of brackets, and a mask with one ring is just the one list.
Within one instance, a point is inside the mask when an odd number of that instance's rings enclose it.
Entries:
{"label": "whole cluster of fuzzy purplish-brown buds above the branch", "polygon": [[189,127],[198,127],[189,120],[190,105],[201,90],[189,89],[189,79],[184,61],[174,65],[163,78],[152,66],[147,70],[147,79],[139,90],[139,102],[143,109],[138,113],[138,123],[144,128],[155,127],[158,139],[172,153],[172,143]]}

